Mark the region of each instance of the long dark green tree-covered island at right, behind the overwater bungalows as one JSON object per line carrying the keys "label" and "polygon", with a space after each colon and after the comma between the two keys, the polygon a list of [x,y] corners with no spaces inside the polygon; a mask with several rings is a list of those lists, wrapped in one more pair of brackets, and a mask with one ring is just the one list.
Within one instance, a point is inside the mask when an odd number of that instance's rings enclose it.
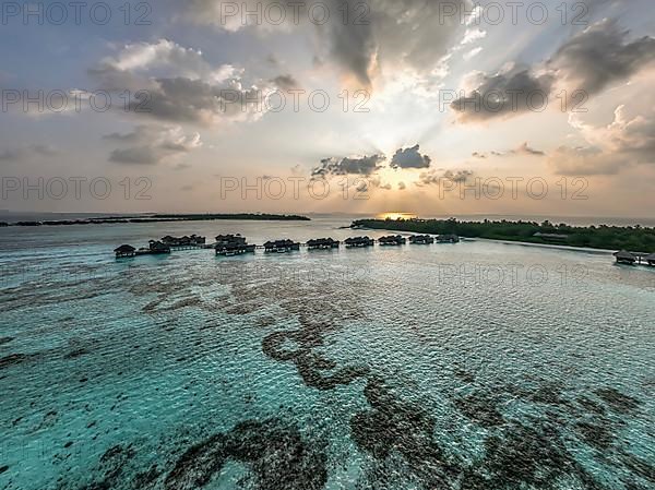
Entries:
{"label": "long dark green tree-covered island at right, behind the overwater bungalows", "polygon": [[588,247],[632,252],[655,251],[655,228],[641,226],[590,226],[575,227],[553,225],[549,222],[460,222],[457,219],[359,219],[353,228],[388,229],[415,234],[454,234],[465,238],[523,241],[528,243]]}

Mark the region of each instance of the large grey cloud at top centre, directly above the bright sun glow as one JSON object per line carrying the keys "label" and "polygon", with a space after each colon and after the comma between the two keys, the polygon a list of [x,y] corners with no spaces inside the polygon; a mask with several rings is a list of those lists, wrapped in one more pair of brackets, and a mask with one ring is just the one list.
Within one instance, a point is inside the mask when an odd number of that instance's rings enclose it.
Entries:
{"label": "large grey cloud at top centre, directly above the bright sun glow", "polygon": [[[230,13],[221,0],[192,0],[188,19],[228,32],[311,27],[318,38],[318,43],[311,44],[315,51],[313,58],[333,61],[361,86],[370,87],[373,79],[384,70],[397,72],[407,68],[424,74],[432,71],[448,55],[460,28],[464,29],[460,15],[444,15],[444,5],[457,12],[473,9],[471,0],[325,0],[322,2],[325,9],[317,9],[317,3],[245,0],[236,4],[236,12]],[[282,25],[269,22],[255,25],[254,15],[247,16],[243,22],[242,13],[247,10],[266,12],[274,4],[282,5],[287,14]],[[324,23],[317,22],[325,11],[330,19]],[[347,19],[344,19],[345,11]],[[276,7],[275,12],[279,12],[279,8]],[[300,25],[295,25],[296,19]]]}

